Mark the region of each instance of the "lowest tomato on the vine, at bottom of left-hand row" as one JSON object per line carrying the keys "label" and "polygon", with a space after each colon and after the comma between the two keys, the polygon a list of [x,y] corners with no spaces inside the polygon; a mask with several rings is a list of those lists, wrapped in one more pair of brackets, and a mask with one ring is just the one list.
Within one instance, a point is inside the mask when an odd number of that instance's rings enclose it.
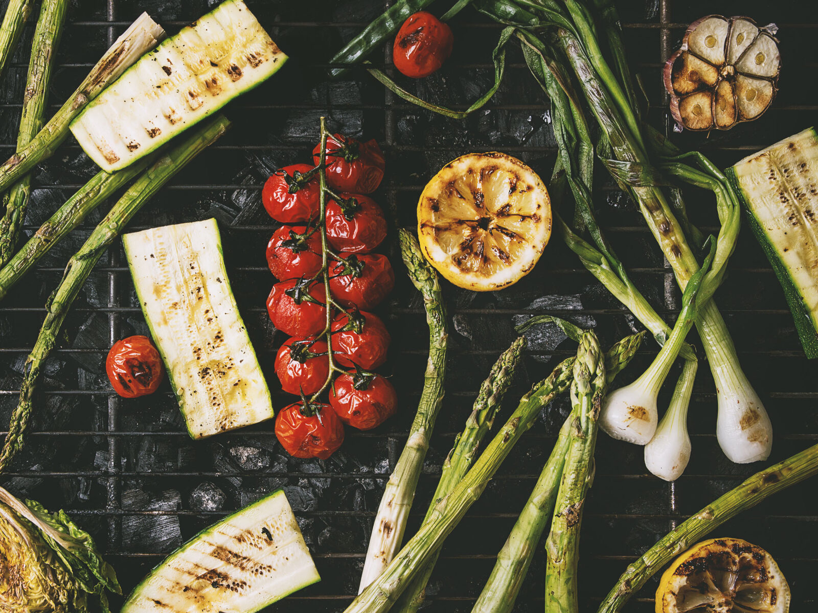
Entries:
{"label": "lowest tomato on the vine, at bottom of left-hand row", "polygon": [[296,458],[327,459],[344,442],[344,424],[330,405],[302,400],[279,411],[276,438]]}

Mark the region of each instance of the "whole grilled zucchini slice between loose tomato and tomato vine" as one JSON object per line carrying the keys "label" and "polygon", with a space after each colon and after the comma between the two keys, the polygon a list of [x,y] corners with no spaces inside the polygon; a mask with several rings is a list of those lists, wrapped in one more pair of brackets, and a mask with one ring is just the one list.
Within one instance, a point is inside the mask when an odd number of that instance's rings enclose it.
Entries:
{"label": "whole grilled zucchini slice between loose tomato and tomato vine", "polygon": [[123,242],[191,438],[272,418],[270,390],[227,280],[216,220],[144,230]]}

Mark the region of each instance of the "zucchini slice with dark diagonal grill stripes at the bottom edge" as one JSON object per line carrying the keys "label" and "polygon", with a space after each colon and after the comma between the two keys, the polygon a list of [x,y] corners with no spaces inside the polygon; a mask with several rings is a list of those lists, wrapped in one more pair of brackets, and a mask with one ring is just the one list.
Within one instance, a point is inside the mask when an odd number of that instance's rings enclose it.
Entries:
{"label": "zucchini slice with dark diagonal grill stripes at the bottom edge", "polygon": [[178,548],[121,613],[253,613],[320,581],[290,503],[277,490]]}

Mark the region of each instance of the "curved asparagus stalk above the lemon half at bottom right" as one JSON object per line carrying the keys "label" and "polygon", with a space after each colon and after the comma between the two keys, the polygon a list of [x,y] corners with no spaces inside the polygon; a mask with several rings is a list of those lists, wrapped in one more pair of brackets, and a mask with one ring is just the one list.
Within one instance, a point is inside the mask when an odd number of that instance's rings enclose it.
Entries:
{"label": "curved asparagus stalk above the lemon half at bottom right", "polygon": [[627,567],[617,584],[602,601],[598,613],[622,611],[631,596],[645,585],[662,567],[703,536],[748,508],[790,485],[800,483],[818,473],[818,445],[795,454],[783,462],[757,472],[744,483],[730,490],[707,507],[664,535],[636,562]]}

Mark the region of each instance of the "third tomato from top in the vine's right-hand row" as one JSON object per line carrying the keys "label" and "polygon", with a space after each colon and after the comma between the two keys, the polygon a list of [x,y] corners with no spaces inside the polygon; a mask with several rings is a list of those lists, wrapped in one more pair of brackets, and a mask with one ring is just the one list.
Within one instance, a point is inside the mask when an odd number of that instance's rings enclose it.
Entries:
{"label": "third tomato from top in the vine's right-hand row", "polygon": [[389,258],[380,253],[341,253],[342,262],[330,265],[330,293],[344,307],[370,311],[395,286]]}

